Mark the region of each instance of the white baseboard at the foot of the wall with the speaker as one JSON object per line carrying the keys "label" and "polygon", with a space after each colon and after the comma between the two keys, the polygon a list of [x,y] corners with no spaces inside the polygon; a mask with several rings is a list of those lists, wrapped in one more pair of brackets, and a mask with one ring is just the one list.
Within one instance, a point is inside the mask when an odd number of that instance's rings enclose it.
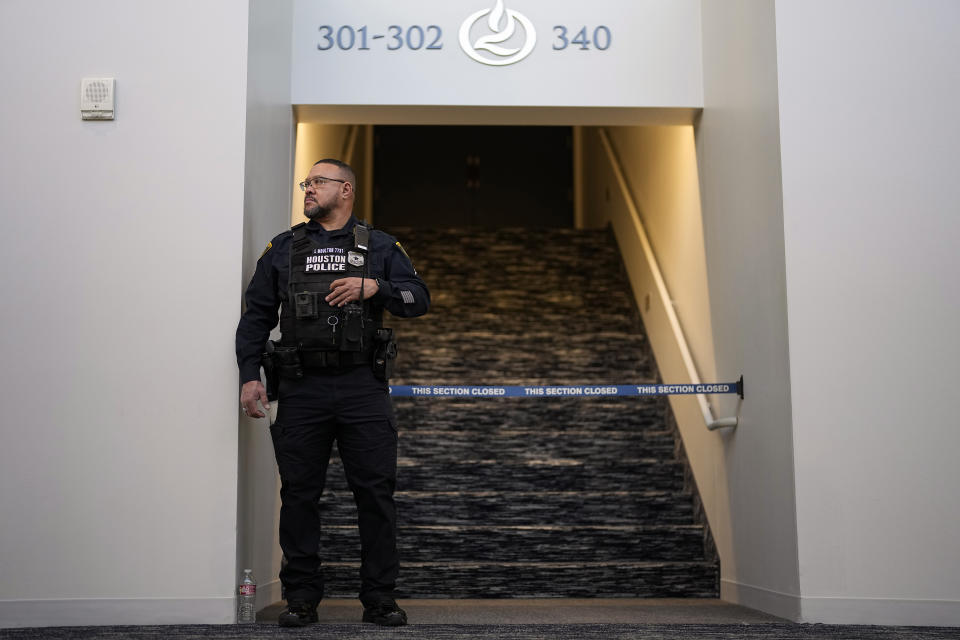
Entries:
{"label": "white baseboard at the foot of the wall with the speaker", "polygon": [[232,624],[229,598],[0,600],[0,628],[151,624]]}

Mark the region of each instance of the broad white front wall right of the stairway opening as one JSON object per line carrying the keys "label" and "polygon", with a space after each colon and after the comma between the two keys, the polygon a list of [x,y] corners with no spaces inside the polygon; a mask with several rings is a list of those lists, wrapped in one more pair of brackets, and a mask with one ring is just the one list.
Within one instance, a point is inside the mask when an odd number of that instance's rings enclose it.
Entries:
{"label": "broad white front wall right of the stairway opening", "polygon": [[960,4],[776,31],[803,617],[957,625]]}

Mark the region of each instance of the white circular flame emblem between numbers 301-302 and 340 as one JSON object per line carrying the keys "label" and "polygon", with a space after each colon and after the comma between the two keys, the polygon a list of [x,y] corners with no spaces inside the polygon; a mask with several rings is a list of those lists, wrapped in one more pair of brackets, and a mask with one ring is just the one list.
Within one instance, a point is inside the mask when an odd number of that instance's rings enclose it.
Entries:
{"label": "white circular flame emblem between numbers 301-302 and 340", "polygon": [[[470,40],[471,32],[484,16],[487,18],[487,29],[489,33],[478,37],[476,40]],[[504,46],[508,40],[514,37],[517,32],[517,25],[523,30],[524,42],[522,46],[512,47]],[[503,0],[497,0],[493,9],[483,9],[477,11],[460,25],[460,48],[468,56],[483,64],[493,66],[503,66],[520,62],[533,51],[537,43],[537,32],[533,28],[533,23],[522,13],[512,9],[505,9]],[[481,55],[480,51],[486,51],[492,54]]]}

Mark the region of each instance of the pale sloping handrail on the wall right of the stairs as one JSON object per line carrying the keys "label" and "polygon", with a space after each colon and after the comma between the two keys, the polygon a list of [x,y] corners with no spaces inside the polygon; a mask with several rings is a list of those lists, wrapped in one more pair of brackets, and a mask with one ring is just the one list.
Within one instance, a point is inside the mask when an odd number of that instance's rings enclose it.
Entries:
{"label": "pale sloping handrail on the wall right of the stairs", "polygon": [[[691,384],[700,384],[701,380],[700,374],[697,372],[697,365],[694,363],[693,355],[690,353],[690,347],[687,345],[687,338],[683,333],[683,327],[680,325],[680,319],[677,317],[677,313],[673,308],[673,298],[670,297],[670,291],[667,289],[667,283],[663,279],[663,273],[660,271],[660,265],[657,262],[657,257],[653,252],[653,246],[650,244],[650,239],[647,237],[647,231],[643,226],[643,219],[640,217],[640,211],[637,209],[636,202],[634,202],[633,199],[633,194],[630,192],[630,186],[623,174],[623,168],[620,165],[620,159],[617,157],[617,153],[613,148],[613,144],[610,142],[610,137],[607,135],[607,130],[601,127],[599,132],[600,142],[603,144],[604,151],[607,153],[607,159],[610,161],[610,166],[617,178],[617,183],[620,185],[620,191],[623,194],[623,199],[627,204],[627,209],[630,211],[630,217],[633,219],[633,226],[637,232],[637,237],[640,239],[640,244],[643,247],[643,254],[647,260],[647,266],[650,268],[650,273],[653,275],[653,281],[656,284],[657,293],[659,294],[660,300],[663,303],[663,307],[667,312],[667,320],[670,323],[670,329],[673,331],[674,339],[676,340],[677,346],[680,349],[680,357],[683,360],[683,365],[687,370],[687,376],[689,376]],[[715,418],[713,415],[713,410],[710,408],[710,403],[707,401],[707,396],[705,394],[697,394],[697,403],[700,406],[700,412],[703,414],[703,420],[707,425],[707,429],[710,431],[715,431],[717,429],[733,429],[736,428],[740,423],[740,407],[743,404],[742,396],[737,401],[737,415],[731,418]]]}

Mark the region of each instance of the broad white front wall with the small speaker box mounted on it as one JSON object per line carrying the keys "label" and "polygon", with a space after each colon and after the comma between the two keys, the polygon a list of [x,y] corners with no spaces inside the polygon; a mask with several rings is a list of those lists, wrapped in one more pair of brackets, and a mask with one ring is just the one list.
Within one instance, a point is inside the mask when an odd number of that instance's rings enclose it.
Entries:
{"label": "broad white front wall with the small speaker box mounted on it", "polygon": [[229,0],[0,3],[0,626],[233,619],[246,44]]}

